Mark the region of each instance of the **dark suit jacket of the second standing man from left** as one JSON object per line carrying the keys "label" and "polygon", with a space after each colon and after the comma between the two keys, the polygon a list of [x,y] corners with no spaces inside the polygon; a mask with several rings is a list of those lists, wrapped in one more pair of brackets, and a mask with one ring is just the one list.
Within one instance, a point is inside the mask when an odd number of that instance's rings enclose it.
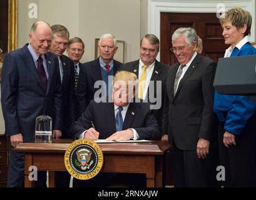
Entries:
{"label": "dark suit jacket of the second standing man from left", "polygon": [[68,56],[60,56],[63,67],[63,79],[61,83],[63,105],[63,131],[62,138],[69,138],[69,128],[76,119],[77,103],[74,93],[74,63]]}

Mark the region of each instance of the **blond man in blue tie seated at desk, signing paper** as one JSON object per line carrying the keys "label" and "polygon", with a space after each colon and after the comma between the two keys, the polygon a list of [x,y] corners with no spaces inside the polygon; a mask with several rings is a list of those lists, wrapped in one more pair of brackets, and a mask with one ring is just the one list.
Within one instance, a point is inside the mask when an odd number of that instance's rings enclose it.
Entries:
{"label": "blond man in blue tie seated at desk, signing paper", "polygon": [[[135,74],[127,71],[118,72],[113,80],[113,101],[91,100],[86,111],[71,127],[74,139],[107,139],[110,141],[160,139],[160,128],[150,110],[150,104],[136,103],[134,99],[136,84],[138,80]],[[106,186],[105,181],[108,181],[113,174],[109,177],[108,175],[110,174],[102,174],[101,176],[106,177],[97,177],[92,179],[92,182],[81,182],[75,179],[74,186],[79,186],[77,184],[79,182],[83,186]],[[136,184],[134,182],[135,180],[133,180],[133,186]]]}

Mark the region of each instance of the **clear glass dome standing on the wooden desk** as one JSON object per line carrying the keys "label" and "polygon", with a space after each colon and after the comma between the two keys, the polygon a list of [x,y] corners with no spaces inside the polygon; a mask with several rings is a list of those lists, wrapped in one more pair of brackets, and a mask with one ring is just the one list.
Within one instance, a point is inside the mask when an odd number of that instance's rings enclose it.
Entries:
{"label": "clear glass dome standing on the wooden desk", "polygon": [[51,143],[53,119],[47,115],[41,115],[36,118],[36,137],[35,143]]}

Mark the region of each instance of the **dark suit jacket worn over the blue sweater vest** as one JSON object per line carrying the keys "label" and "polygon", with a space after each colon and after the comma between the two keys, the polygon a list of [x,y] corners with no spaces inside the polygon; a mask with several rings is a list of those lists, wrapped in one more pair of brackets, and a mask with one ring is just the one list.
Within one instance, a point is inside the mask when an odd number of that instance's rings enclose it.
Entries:
{"label": "dark suit jacket worn over the blue sweater vest", "polygon": [[[121,63],[114,60],[114,75],[118,72]],[[76,97],[78,99],[79,116],[85,111],[98,88],[94,88],[95,82],[102,80],[100,58],[80,65],[78,87]]]}

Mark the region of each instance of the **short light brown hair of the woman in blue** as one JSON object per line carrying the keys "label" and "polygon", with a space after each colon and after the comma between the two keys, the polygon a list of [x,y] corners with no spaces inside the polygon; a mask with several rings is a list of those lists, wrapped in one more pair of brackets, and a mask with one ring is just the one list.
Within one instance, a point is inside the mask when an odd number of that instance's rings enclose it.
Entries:
{"label": "short light brown hair of the woman in blue", "polygon": [[250,28],[252,26],[252,16],[250,12],[243,8],[235,7],[225,11],[222,16],[220,16],[220,24],[223,26],[225,22],[231,22],[232,26],[240,29],[243,24],[247,25],[247,30],[245,31],[245,36],[250,35]]}

